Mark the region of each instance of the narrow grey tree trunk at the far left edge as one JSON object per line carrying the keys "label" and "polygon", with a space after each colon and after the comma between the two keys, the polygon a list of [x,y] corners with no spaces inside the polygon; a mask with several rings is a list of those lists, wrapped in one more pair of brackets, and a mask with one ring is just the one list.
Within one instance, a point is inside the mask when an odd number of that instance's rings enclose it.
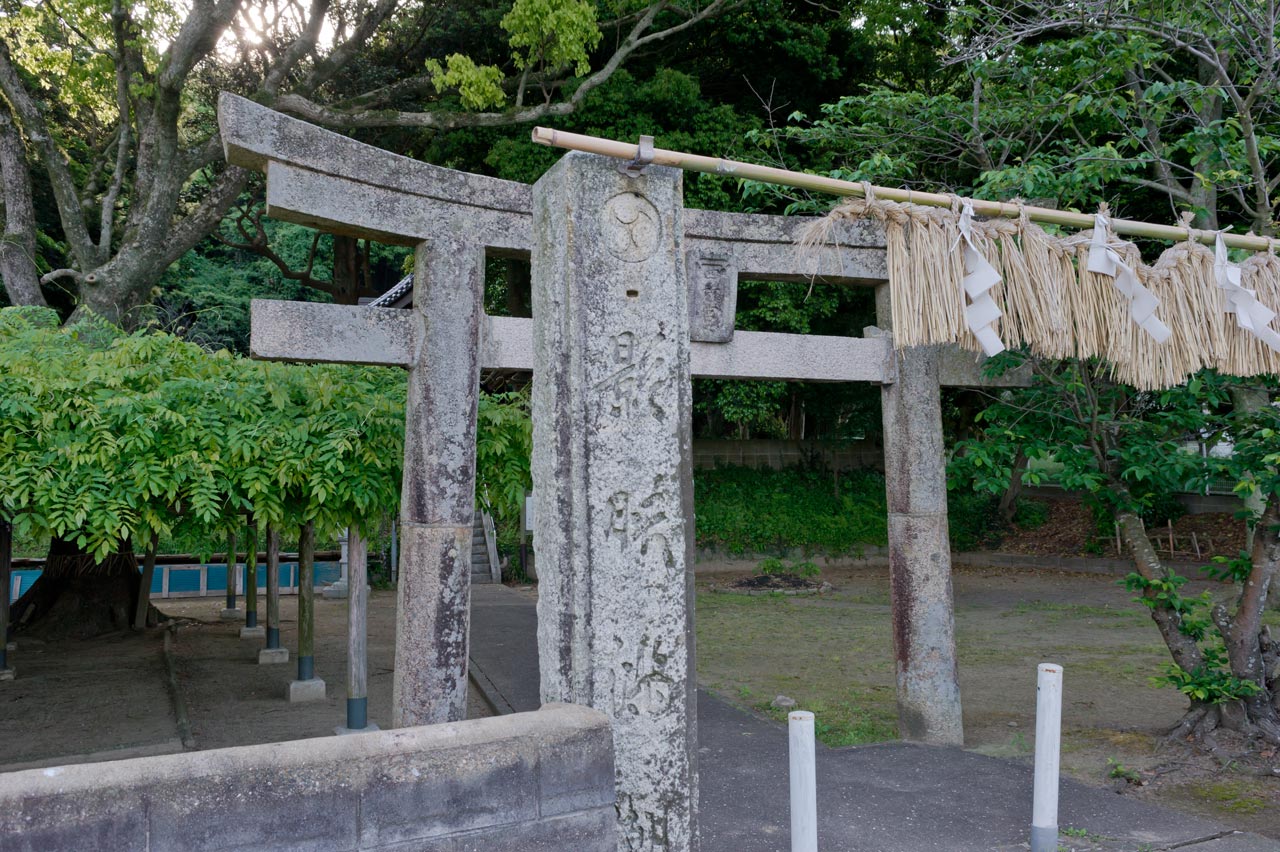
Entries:
{"label": "narrow grey tree trunk at the far left edge", "polygon": [[0,184],[4,194],[4,237],[0,237],[0,284],[12,304],[45,304],[36,269],[36,210],[22,134],[0,99]]}

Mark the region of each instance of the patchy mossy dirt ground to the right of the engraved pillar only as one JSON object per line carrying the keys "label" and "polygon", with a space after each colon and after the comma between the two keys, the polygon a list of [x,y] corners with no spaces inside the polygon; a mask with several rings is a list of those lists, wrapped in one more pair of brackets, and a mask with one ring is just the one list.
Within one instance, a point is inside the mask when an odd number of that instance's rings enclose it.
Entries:
{"label": "patchy mossy dirt ground to the right of the engraved pillar only", "polygon": [[[893,738],[887,569],[827,565],[822,580],[835,591],[822,596],[719,591],[750,571],[753,563],[699,564],[699,679],[778,719],[773,698],[795,698],[818,715],[828,745]],[[1169,654],[1115,578],[961,568],[954,587],[968,748],[1030,760],[1036,667],[1059,663],[1066,774],[1280,838],[1280,756],[1244,757],[1245,743],[1226,734],[1220,759],[1164,742],[1187,700],[1149,682]],[[1201,587],[1210,586],[1193,583],[1192,594]]]}

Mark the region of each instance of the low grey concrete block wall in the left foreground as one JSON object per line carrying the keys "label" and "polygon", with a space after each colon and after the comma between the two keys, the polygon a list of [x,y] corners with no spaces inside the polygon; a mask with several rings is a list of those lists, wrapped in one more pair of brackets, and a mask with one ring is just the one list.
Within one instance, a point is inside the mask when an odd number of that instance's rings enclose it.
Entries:
{"label": "low grey concrete block wall in the left foreground", "polygon": [[0,774],[6,852],[614,852],[588,707]]}

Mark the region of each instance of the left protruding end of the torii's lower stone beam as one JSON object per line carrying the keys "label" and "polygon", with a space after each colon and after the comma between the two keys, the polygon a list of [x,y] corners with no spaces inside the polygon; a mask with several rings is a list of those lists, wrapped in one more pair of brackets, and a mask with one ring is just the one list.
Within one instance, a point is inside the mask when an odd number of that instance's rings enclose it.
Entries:
{"label": "left protruding end of the torii's lower stone beam", "polygon": [[416,324],[410,311],[253,299],[250,354],[264,361],[407,367]]}

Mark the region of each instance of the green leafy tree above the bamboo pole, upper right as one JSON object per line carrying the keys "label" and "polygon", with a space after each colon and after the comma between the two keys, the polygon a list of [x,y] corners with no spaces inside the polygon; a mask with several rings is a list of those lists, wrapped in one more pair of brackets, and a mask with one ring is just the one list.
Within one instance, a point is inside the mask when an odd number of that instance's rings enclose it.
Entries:
{"label": "green leafy tree above the bamboo pole, upper right", "polygon": [[[897,5],[897,4],[890,4]],[[870,15],[933,45],[924,73],[850,91],[778,130],[808,168],[1274,233],[1280,24],[1266,4],[968,0]],[[794,202],[812,200],[792,196]]]}

